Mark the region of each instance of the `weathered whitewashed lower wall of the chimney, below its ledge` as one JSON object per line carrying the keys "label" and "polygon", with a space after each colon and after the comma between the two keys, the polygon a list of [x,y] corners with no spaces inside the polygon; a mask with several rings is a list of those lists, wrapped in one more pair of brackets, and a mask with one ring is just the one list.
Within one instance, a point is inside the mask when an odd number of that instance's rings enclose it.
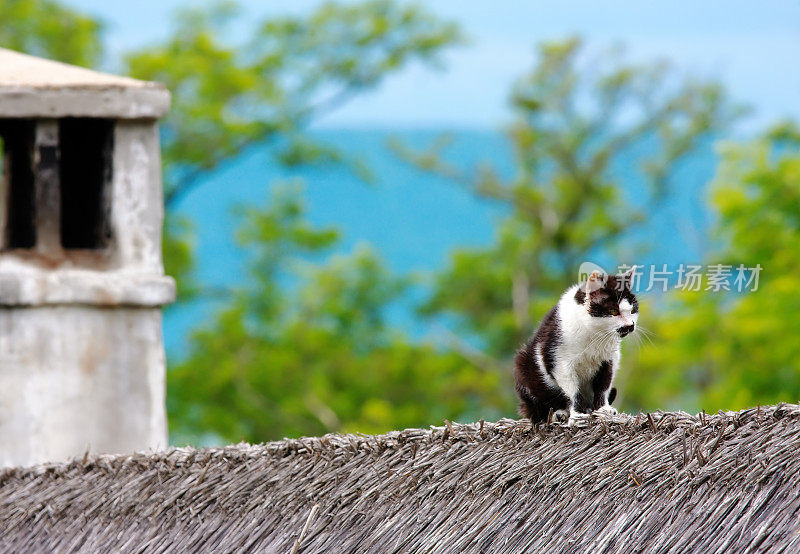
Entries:
{"label": "weathered whitewashed lower wall of the chimney, below its ledge", "polygon": [[0,466],[167,445],[156,308],[0,307]]}

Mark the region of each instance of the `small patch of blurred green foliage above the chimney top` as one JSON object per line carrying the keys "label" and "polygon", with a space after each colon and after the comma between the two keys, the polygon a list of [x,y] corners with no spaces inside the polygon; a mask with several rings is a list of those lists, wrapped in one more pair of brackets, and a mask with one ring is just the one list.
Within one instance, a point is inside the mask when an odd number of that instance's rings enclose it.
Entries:
{"label": "small patch of blurred green foliage above the chimney top", "polygon": [[91,67],[101,58],[102,23],[50,0],[3,0],[0,46]]}

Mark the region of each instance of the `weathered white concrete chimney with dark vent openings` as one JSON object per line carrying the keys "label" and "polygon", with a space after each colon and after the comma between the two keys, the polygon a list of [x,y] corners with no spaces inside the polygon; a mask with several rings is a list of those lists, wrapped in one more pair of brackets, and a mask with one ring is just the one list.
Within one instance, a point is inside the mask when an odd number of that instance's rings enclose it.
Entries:
{"label": "weathered white concrete chimney with dark vent openings", "polygon": [[0,49],[0,466],[167,445],[159,84]]}

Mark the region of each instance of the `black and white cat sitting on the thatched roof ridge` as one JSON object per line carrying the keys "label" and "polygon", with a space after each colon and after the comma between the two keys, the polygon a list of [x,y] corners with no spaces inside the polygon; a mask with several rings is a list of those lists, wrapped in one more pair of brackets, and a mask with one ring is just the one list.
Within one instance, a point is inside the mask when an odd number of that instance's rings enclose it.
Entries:
{"label": "black and white cat sitting on the thatched roof ridge", "polygon": [[633,332],[639,303],[631,291],[635,266],[622,275],[593,272],[573,285],[517,352],[514,369],[520,414],[532,421],[611,407],[622,338]]}

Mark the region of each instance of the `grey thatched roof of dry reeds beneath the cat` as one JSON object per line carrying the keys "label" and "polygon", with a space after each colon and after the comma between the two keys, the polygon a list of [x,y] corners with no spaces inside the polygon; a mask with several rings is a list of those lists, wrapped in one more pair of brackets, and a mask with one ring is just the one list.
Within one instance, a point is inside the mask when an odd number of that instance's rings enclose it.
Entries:
{"label": "grey thatched roof of dry reeds beneath the cat", "polygon": [[[315,508],[317,506],[317,508]],[[0,550],[800,552],[800,407],[173,449],[0,473]]]}

